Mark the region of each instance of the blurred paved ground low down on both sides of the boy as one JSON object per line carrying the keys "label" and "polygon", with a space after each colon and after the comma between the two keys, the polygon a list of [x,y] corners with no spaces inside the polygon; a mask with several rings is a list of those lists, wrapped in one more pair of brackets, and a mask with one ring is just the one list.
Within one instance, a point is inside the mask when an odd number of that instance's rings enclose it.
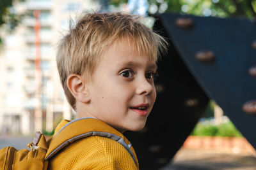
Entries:
{"label": "blurred paved ground low down on both sides of the boy", "polygon": [[[26,148],[32,137],[1,137],[0,148]],[[236,150],[198,150],[181,148],[172,164],[161,170],[256,170],[256,153],[237,153]]]}

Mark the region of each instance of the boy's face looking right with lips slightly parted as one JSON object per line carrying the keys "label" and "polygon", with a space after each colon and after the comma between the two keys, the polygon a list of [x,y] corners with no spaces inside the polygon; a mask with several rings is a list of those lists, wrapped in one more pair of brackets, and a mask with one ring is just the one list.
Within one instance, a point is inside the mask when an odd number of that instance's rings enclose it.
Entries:
{"label": "boy's face looking right with lips slightly parted", "polygon": [[126,41],[111,46],[87,84],[87,114],[120,132],[143,129],[156,100],[156,61],[131,49]]}

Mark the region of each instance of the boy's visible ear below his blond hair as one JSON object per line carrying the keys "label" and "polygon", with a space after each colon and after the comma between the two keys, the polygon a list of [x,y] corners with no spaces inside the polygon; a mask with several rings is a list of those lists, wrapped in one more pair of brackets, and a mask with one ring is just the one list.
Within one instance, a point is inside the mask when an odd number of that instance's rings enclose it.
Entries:
{"label": "boy's visible ear below his blond hair", "polygon": [[78,74],[70,74],[67,78],[67,87],[77,101],[80,101],[81,103],[90,102],[88,88],[86,87],[82,76]]}

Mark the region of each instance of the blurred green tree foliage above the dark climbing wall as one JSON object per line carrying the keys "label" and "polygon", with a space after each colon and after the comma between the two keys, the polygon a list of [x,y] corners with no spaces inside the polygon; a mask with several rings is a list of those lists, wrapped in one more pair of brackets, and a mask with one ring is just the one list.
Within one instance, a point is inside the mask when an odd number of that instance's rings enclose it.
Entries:
{"label": "blurred green tree foliage above the dark climbing wall", "polygon": [[[118,6],[127,0],[110,0]],[[149,13],[187,13],[216,17],[256,17],[256,0],[148,0]]]}

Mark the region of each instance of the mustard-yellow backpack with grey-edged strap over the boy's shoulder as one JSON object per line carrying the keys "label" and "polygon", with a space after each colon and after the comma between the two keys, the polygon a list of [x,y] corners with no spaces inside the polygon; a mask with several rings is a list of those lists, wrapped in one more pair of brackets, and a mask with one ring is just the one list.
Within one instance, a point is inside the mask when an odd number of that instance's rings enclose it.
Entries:
{"label": "mustard-yellow backpack with grey-edged strap over the boy's shoulder", "polygon": [[131,143],[120,132],[95,118],[79,118],[64,125],[52,136],[48,145],[44,134],[36,132],[33,141],[27,145],[30,151],[17,150],[12,146],[0,149],[0,169],[46,170],[48,160],[62,148],[78,139],[90,136],[103,136],[117,141],[126,148],[137,166],[138,162],[134,150],[131,150]]}

